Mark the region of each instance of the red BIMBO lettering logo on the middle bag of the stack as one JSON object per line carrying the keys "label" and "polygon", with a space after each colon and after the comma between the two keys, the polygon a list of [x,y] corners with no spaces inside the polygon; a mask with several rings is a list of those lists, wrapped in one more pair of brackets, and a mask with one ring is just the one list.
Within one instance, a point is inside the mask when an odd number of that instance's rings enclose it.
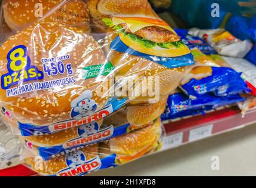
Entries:
{"label": "red BIMBO lettering logo on the middle bag of the stack", "polygon": [[79,146],[79,145],[85,145],[90,144],[98,141],[107,140],[109,137],[113,135],[114,127],[109,126],[106,129],[100,130],[98,133],[95,133],[93,135],[89,135],[87,137],[79,137],[78,139],[71,140],[65,145],[63,145],[64,149],[67,149],[69,147]]}

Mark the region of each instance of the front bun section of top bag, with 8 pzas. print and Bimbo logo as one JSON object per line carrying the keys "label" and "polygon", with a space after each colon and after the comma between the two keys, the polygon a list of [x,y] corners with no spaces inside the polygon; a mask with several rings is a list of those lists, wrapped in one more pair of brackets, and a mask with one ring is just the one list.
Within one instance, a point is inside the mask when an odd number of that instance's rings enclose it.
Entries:
{"label": "front bun section of top bag, with 8 pzas. print and Bimbo logo", "polygon": [[0,49],[1,106],[19,129],[53,133],[101,119],[128,102],[111,96],[114,66],[78,28],[31,25]]}

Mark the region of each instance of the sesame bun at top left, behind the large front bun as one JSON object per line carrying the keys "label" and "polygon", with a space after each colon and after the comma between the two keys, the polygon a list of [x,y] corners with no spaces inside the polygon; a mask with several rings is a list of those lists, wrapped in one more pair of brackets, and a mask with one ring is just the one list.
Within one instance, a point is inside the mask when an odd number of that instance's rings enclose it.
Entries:
{"label": "sesame bun at top left, behind the large front bun", "polygon": [[6,0],[3,5],[5,22],[12,31],[19,31],[38,19],[69,26],[83,25],[85,31],[91,31],[89,11],[82,0]]}

